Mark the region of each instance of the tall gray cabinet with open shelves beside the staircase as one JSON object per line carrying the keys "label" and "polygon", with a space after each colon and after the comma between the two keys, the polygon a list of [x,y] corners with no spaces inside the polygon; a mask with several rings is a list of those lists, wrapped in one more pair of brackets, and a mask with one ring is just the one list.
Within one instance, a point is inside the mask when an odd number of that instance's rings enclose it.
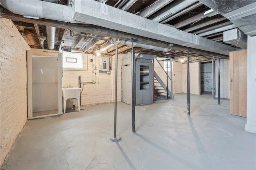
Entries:
{"label": "tall gray cabinet with open shelves beside the staircase", "polygon": [[136,106],[153,103],[153,63],[156,55],[139,53],[135,61]]}

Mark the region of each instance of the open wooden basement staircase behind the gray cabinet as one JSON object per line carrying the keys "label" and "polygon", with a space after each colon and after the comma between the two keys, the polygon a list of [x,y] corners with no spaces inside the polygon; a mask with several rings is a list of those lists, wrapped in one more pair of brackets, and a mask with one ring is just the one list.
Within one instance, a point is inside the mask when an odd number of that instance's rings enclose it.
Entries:
{"label": "open wooden basement staircase behind the gray cabinet", "polygon": [[[167,98],[167,91],[166,91],[166,85],[161,80],[161,78],[156,74],[154,71],[154,88],[156,92],[159,94],[159,96],[165,96]],[[170,90],[168,90],[168,98],[171,96]]]}

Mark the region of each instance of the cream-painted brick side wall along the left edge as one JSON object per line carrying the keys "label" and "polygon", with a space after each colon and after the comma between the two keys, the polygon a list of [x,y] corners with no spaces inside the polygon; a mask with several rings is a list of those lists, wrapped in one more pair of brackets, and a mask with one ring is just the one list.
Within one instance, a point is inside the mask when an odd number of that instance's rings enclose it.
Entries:
{"label": "cream-painted brick side wall along the left edge", "polygon": [[27,120],[26,50],[12,21],[0,18],[0,166]]}

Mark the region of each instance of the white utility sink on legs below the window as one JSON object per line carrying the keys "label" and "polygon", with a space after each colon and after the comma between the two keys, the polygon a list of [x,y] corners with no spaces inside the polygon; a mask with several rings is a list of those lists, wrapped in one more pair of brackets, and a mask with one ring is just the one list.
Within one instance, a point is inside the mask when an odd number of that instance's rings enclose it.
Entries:
{"label": "white utility sink on legs below the window", "polygon": [[64,101],[64,113],[66,112],[66,102],[68,99],[77,99],[78,109],[80,111],[80,92],[81,88],[72,87],[72,88],[62,88],[62,97]]}

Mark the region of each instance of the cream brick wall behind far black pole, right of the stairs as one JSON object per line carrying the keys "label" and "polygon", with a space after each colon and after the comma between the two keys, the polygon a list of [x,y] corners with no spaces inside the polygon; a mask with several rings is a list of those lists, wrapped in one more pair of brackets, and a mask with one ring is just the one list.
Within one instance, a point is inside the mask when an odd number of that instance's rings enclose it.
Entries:
{"label": "cream brick wall behind far black pole, right of the stairs", "polygon": [[[200,84],[199,84],[199,63],[190,63],[190,94],[200,94]],[[182,92],[187,92],[187,64],[182,64]]]}

